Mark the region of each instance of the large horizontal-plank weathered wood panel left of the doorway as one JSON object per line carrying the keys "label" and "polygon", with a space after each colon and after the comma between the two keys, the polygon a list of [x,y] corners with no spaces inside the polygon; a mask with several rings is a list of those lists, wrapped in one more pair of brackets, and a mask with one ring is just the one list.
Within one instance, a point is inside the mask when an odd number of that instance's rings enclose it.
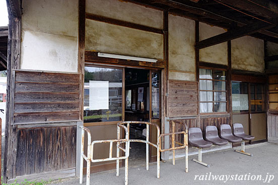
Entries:
{"label": "large horizontal-plank weathered wood panel left of the doorway", "polygon": [[14,123],[80,120],[80,75],[15,72]]}

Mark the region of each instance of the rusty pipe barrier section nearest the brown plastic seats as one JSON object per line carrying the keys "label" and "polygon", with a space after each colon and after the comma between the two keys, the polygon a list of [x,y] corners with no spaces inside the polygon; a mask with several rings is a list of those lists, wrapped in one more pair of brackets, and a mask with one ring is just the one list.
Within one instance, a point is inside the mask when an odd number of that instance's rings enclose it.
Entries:
{"label": "rusty pipe barrier section nearest the brown plastic seats", "polygon": [[[174,121],[174,120],[169,120],[169,121],[170,121],[169,124],[172,125],[172,133],[161,134],[159,136],[159,143],[161,143],[162,137],[172,136],[172,148],[162,149],[161,145],[160,145],[159,150],[161,152],[172,150],[173,151],[173,165],[175,165],[175,150],[185,148],[185,172],[188,173],[188,128],[187,128],[187,125],[183,124],[182,122],[178,122],[178,121]],[[185,131],[174,132],[176,123],[182,125],[183,129]],[[179,135],[179,134],[183,134],[183,143],[175,141],[175,135]],[[175,147],[175,144],[178,144],[180,146]]]}

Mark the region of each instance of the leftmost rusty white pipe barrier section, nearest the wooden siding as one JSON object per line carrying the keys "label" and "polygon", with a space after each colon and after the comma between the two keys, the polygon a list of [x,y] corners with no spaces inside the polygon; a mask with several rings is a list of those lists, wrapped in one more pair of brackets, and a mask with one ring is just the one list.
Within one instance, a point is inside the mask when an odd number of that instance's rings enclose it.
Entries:
{"label": "leftmost rusty white pipe barrier section, nearest the wooden siding", "polygon": [[[124,183],[127,185],[128,183],[128,156],[129,156],[129,130],[124,126],[117,124],[117,135],[120,135],[120,128],[123,128],[125,130],[125,139],[111,139],[111,140],[99,140],[99,141],[93,141],[91,142],[91,132],[88,128],[80,125],[80,128],[82,129],[81,132],[81,160],[80,160],[80,179],[79,183],[83,182],[83,159],[86,160],[87,162],[87,176],[86,176],[86,184],[90,185],[90,167],[91,167],[91,162],[102,162],[102,161],[111,161],[111,160],[117,160],[120,159],[125,159],[125,179]],[[85,138],[85,131],[88,134],[88,150],[87,150],[87,156],[84,154],[84,138]],[[113,142],[117,142],[117,157],[112,157],[112,151],[113,151]],[[103,159],[93,159],[94,157],[94,144],[97,143],[110,143],[110,148],[109,148],[109,158],[103,158]],[[125,148],[122,148],[119,146],[119,143],[125,143]],[[122,151],[125,152],[125,156],[120,157],[118,155],[118,151],[121,149]],[[119,175],[119,171],[117,169],[116,176]]]}

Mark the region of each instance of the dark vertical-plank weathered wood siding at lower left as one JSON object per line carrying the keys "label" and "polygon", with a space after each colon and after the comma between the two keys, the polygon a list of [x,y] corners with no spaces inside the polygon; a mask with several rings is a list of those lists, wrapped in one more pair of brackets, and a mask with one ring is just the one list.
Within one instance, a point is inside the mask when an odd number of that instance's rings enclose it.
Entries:
{"label": "dark vertical-plank weathered wood siding at lower left", "polygon": [[76,127],[19,129],[16,176],[76,166]]}

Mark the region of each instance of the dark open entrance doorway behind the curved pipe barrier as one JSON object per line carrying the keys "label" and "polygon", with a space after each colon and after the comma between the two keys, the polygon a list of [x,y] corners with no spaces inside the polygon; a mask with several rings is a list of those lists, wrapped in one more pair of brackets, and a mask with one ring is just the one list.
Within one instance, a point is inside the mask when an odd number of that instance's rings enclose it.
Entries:
{"label": "dark open entrance doorway behind the curved pipe barrier", "polygon": [[[160,121],[160,72],[125,68],[125,121]],[[130,139],[146,140],[146,124],[130,124]],[[152,133],[152,132],[150,132]],[[150,134],[151,135],[151,134]],[[152,137],[150,137],[152,139]],[[141,165],[146,161],[146,144],[130,143],[129,163]],[[152,161],[152,148],[149,160]]]}

